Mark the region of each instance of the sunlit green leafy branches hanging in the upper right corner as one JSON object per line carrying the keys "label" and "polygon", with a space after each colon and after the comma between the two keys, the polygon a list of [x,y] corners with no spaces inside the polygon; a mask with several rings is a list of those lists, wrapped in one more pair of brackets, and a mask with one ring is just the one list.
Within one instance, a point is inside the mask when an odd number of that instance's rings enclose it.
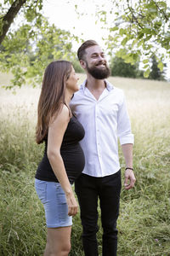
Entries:
{"label": "sunlit green leafy branches hanging in the upper right corner", "polygon": [[98,11],[101,22],[109,25],[108,48],[127,63],[143,57],[144,77],[150,73],[150,58],[156,55],[158,67],[170,57],[170,9],[166,0],[112,0],[110,13]]}

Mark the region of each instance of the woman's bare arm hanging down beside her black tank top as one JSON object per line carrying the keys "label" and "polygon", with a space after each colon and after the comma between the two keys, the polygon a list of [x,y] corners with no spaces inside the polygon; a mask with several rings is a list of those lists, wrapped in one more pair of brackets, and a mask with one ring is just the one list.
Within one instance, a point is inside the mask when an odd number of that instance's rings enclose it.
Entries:
{"label": "woman's bare arm hanging down beside her black tank top", "polygon": [[60,154],[61,143],[65,134],[66,127],[70,120],[69,109],[64,105],[59,115],[48,127],[48,160],[53,168],[54,174],[59,180],[62,189],[65,191],[68,204],[68,214],[75,215],[78,205],[75,195],[71,189],[71,183],[65,172],[65,166]]}

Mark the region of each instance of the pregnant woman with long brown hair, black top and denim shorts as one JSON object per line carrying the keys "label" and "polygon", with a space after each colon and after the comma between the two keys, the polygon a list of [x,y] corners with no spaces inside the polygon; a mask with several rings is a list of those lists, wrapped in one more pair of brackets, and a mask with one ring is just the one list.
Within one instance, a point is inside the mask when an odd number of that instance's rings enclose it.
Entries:
{"label": "pregnant woman with long brown hair, black top and denim shorts", "polygon": [[44,73],[38,102],[36,137],[38,144],[45,142],[45,150],[35,187],[45,209],[45,256],[66,256],[71,250],[72,216],[78,210],[71,184],[84,167],[79,145],[84,130],[69,108],[78,90],[77,80],[71,62],[51,62]]}

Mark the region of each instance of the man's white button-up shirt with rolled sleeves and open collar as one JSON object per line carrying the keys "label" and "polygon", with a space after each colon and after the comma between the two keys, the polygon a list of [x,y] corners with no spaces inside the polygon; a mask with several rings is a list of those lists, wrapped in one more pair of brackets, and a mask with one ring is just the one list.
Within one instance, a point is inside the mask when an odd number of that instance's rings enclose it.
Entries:
{"label": "man's white button-up shirt with rolled sleeves and open collar", "polygon": [[133,143],[124,94],[107,80],[105,83],[99,100],[88,90],[86,81],[71,100],[71,110],[85,130],[80,142],[86,162],[83,173],[94,177],[119,171],[117,137],[121,144]]}

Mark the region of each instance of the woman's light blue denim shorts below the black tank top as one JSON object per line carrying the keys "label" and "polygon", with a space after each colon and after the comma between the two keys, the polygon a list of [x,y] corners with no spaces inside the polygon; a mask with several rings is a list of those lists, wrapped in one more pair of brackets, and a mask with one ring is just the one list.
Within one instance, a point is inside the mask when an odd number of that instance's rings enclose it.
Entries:
{"label": "woman's light blue denim shorts below the black tank top", "polygon": [[35,179],[37,195],[42,201],[48,228],[67,227],[72,225],[68,215],[65,192],[59,183]]}

